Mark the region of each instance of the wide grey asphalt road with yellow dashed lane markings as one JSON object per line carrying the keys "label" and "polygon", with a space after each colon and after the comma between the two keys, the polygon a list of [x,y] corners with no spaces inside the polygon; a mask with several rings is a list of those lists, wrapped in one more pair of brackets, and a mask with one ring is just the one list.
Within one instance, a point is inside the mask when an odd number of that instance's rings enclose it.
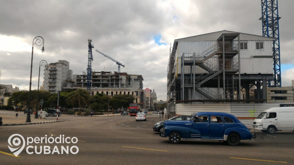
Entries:
{"label": "wide grey asphalt road with yellow dashed lane markings", "polygon": [[[153,124],[159,121],[159,116],[147,116],[146,122],[136,122],[135,117],[130,116],[62,115],[59,119],[65,121],[0,126],[0,164],[294,164],[294,133],[290,131],[273,135],[258,131],[256,139],[241,140],[238,146],[194,140],[170,144],[168,138],[153,132]],[[28,137],[47,136],[48,139],[62,135],[76,137],[78,142],[74,139],[74,143],[69,144],[33,142],[25,144],[24,150],[15,157],[8,148],[12,134],[22,135],[26,143]],[[28,148],[32,154],[26,152],[28,146],[32,146]],[[50,154],[44,154],[44,146],[50,147]],[[57,149],[54,150],[54,146]],[[69,154],[61,154],[61,146],[76,146],[78,152],[72,148]],[[42,152],[36,154],[40,148]]]}

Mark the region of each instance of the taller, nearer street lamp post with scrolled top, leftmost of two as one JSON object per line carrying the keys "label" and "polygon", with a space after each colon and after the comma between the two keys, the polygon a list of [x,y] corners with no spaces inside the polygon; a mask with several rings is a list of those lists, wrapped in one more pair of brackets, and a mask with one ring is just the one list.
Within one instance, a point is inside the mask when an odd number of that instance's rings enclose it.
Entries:
{"label": "taller, nearer street lamp post with scrolled top, leftmost of two", "polygon": [[28,113],[26,115],[26,123],[31,122],[31,86],[32,86],[32,68],[33,68],[33,52],[34,52],[34,45],[36,46],[41,46],[42,47],[42,52],[44,52],[44,38],[41,36],[36,36],[33,39],[33,46],[32,46],[32,57],[31,57],[31,75],[30,75],[30,88],[29,88],[29,103],[28,103]]}

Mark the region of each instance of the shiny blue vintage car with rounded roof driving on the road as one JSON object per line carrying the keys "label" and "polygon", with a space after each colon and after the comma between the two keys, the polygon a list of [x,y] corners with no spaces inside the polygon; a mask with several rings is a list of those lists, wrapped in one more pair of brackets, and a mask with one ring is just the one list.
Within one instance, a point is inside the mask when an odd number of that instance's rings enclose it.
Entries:
{"label": "shiny blue vintage car with rounded roof driving on the road", "polygon": [[219,140],[236,146],[240,140],[255,138],[250,130],[234,115],[223,112],[197,112],[190,120],[164,122],[161,137],[168,137],[172,144],[183,139]]}

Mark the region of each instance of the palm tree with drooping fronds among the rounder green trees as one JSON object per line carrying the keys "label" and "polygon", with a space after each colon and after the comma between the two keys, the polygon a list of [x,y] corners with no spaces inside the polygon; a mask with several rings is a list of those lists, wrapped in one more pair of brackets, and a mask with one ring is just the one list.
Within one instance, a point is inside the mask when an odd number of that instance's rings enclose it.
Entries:
{"label": "palm tree with drooping fronds among the rounder green trees", "polygon": [[81,110],[81,107],[88,104],[89,98],[89,93],[86,90],[79,88],[69,97],[69,101],[71,105],[78,104],[79,110]]}

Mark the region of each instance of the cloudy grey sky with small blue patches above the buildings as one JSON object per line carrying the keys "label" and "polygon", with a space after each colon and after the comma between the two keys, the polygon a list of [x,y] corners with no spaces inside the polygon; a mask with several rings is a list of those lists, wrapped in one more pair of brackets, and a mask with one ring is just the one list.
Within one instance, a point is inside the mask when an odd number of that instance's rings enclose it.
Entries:
{"label": "cloudy grey sky with small blue patches above the buildings", "polygon": [[[282,86],[294,80],[293,0],[278,1]],[[37,89],[39,63],[67,60],[74,74],[86,72],[88,38],[94,44],[92,70],[143,76],[143,89],[166,100],[170,44],[178,38],[215,31],[262,36],[260,0],[0,0],[1,84],[29,90],[31,47],[34,46],[32,89]],[[41,68],[41,70],[44,68]],[[40,76],[42,84],[43,76]]]}

